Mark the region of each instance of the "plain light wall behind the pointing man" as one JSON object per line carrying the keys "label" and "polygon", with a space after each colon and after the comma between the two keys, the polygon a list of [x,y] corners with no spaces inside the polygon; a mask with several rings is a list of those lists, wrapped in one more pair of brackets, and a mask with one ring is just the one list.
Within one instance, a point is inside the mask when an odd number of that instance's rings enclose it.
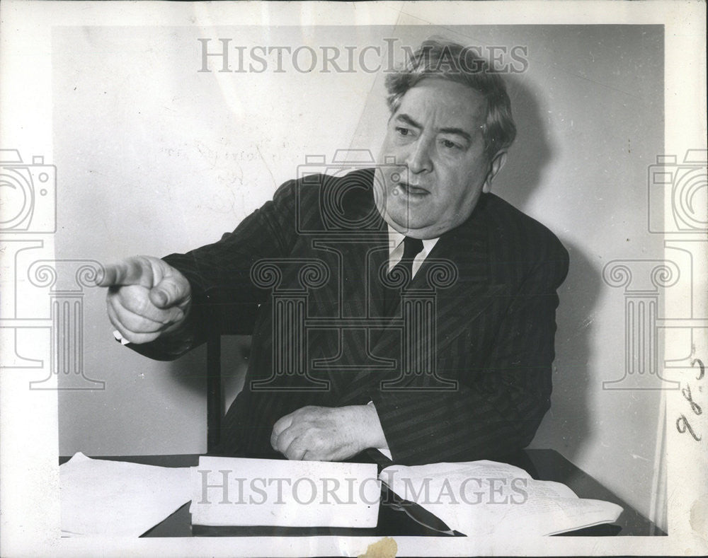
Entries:
{"label": "plain light wall behind the pointing man", "polygon": [[[624,301],[602,271],[662,255],[661,238],[646,233],[647,166],[663,152],[661,27],[55,28],[57,257],[189,250],[231,231],[307,155],[376,153],[387,119],[379,74],[279,73],[272,57],[260,74],[200,73],[198,37],[212,50],[219,37],[360,50],[433,34],[527,47],[526,71],[507,76],[518,136],[493,191],[551,228],[571,257],[552,409],[532,446],[557,449],[649,514],[660,397],[603,390],[624,373]],[[145,359],[114,341],[104,298],[86,291],[83,343],[86,374],[105,390],[59,392],[59,452],[202,453],[203,347],[174,363]],[[224,359],[235,385],[244,343]]]}

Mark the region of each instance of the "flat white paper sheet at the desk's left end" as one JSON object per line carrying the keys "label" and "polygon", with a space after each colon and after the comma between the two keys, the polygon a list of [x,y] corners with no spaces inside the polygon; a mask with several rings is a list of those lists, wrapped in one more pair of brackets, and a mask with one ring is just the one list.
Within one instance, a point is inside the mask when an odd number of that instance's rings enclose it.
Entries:
{"label": "flat white paper sheet at the desk's left end", "polygon": [[139,537],[190,500],[189,467],[76,453],[59,467],[62,536]]}

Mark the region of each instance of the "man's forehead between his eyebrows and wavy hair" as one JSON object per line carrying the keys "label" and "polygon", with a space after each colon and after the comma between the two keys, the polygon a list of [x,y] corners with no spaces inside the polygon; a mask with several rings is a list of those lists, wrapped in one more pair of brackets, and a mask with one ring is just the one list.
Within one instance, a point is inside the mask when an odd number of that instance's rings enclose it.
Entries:
{"label": "man's forehead between his eyebrows and wavy hair", "polygon": [[[478,127],[486,118],[486,99],[472,87],[440,78],[428,78],[411,87],[403,98],[394,117],[433,116],[438,127],[469,124]],[[406,120],[408,120],[406,119]]]}

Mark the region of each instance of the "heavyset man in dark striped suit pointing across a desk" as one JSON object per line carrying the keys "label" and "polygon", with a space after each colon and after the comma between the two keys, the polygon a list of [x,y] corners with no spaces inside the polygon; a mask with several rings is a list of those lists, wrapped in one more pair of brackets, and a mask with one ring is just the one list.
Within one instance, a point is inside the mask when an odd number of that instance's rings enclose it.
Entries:
{"label": "heavyset man in dark striped suit pointing across a desk", "polygon": [[[131,258],[99,281],[115,328],[153,358],[210,328],[253,335],[222,453],[502,458],[549,408],[568,255],[489,193],[515,136],[500,76],[428,40],[387,88],[375,170],[286,182],[219,242]],[[282,306],[282,293],[304,292]],[[293,315],[304,330],[288,329]]]}

